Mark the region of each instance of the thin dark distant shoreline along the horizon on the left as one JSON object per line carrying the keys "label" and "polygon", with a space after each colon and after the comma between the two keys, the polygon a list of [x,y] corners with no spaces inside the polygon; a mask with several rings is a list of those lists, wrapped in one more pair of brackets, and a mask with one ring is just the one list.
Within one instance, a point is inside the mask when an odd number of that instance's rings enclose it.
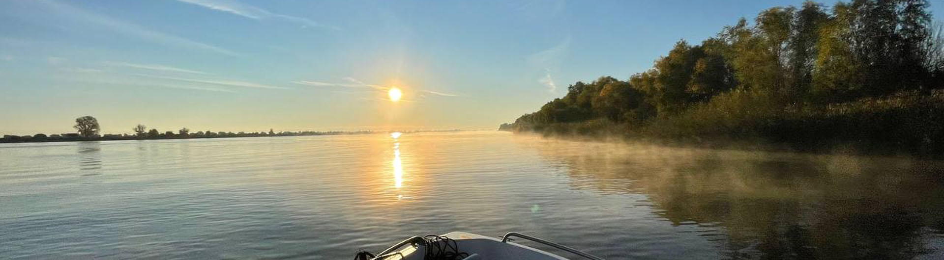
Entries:
{"label": "thin dark distant shoreline along the horizon on the left", "polygon": [[[452,129],[452,130],[418,130],[418,131],[399,131],[403,133],[439,133],[439,132],[459,132],[464,131],[462,129]],[[394,131],[396,132],[396,131]],[[384,133],[384,131],[329,131],[329,132],[302,132],[302,133],[275,133],[275,134],[265,134],[265,133],[226,133],[223,135],[213,134],[213,135],[175,135],[175,136],[157,136],[157,137],[140,137],[140,136],[130,136],[130,135],[106,135],[104,137],[98,138],[81,138],[81,137],[45,137],[45,138],[34,138],[34,137],[15,137],[15,136],[5,136],[5,138],[0,138],[0,143],[28,143],[28,142],[65,142],[65,141],[111,141],[111,140],[164,140],[164,139],[205,139],[205,138],[276,138],[276,137],[315,137],[315,136],[344,136],[344,135],[370,135],[370,134],[379,134]],[[10,138],[15,137],[15,138]]]}

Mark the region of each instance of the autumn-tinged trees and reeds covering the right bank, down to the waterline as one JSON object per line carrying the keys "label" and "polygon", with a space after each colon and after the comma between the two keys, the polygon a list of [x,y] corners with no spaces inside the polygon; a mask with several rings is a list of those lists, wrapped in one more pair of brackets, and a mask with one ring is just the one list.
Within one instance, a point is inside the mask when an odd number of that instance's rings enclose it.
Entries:
{"label": "autumn-tinged trees and reeds covering the right bank, down to the waterline", "polygon": [[577,82],[500,130],[944,154],[944,38],[924,0],[761,11],[628,80]]}

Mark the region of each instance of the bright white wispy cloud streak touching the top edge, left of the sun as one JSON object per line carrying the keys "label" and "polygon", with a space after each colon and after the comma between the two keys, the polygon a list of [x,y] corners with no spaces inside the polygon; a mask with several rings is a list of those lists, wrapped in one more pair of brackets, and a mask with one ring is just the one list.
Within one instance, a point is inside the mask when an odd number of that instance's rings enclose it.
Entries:
{"label": "bright white wispy cloud streak touching the top edge, left of the sun", "polygon": [[302,27],[322,27],[329,28],[332,30],[341,30],[341,28],[328,24],[321,24],[314,22],[311,19],[291,16],[287,14],[280,14],[268,11],[263,8],[257,8],[236,1],[228,0],[177,0],[180,2],[193,4],[201,6],[204,8],[211,8],[218,11],[228,12],[231,14],[243,16],[245,18],[254,19],[254,20],[265,20],[265,19],[276,19],[287,21],[295,24],[302,24]]}

